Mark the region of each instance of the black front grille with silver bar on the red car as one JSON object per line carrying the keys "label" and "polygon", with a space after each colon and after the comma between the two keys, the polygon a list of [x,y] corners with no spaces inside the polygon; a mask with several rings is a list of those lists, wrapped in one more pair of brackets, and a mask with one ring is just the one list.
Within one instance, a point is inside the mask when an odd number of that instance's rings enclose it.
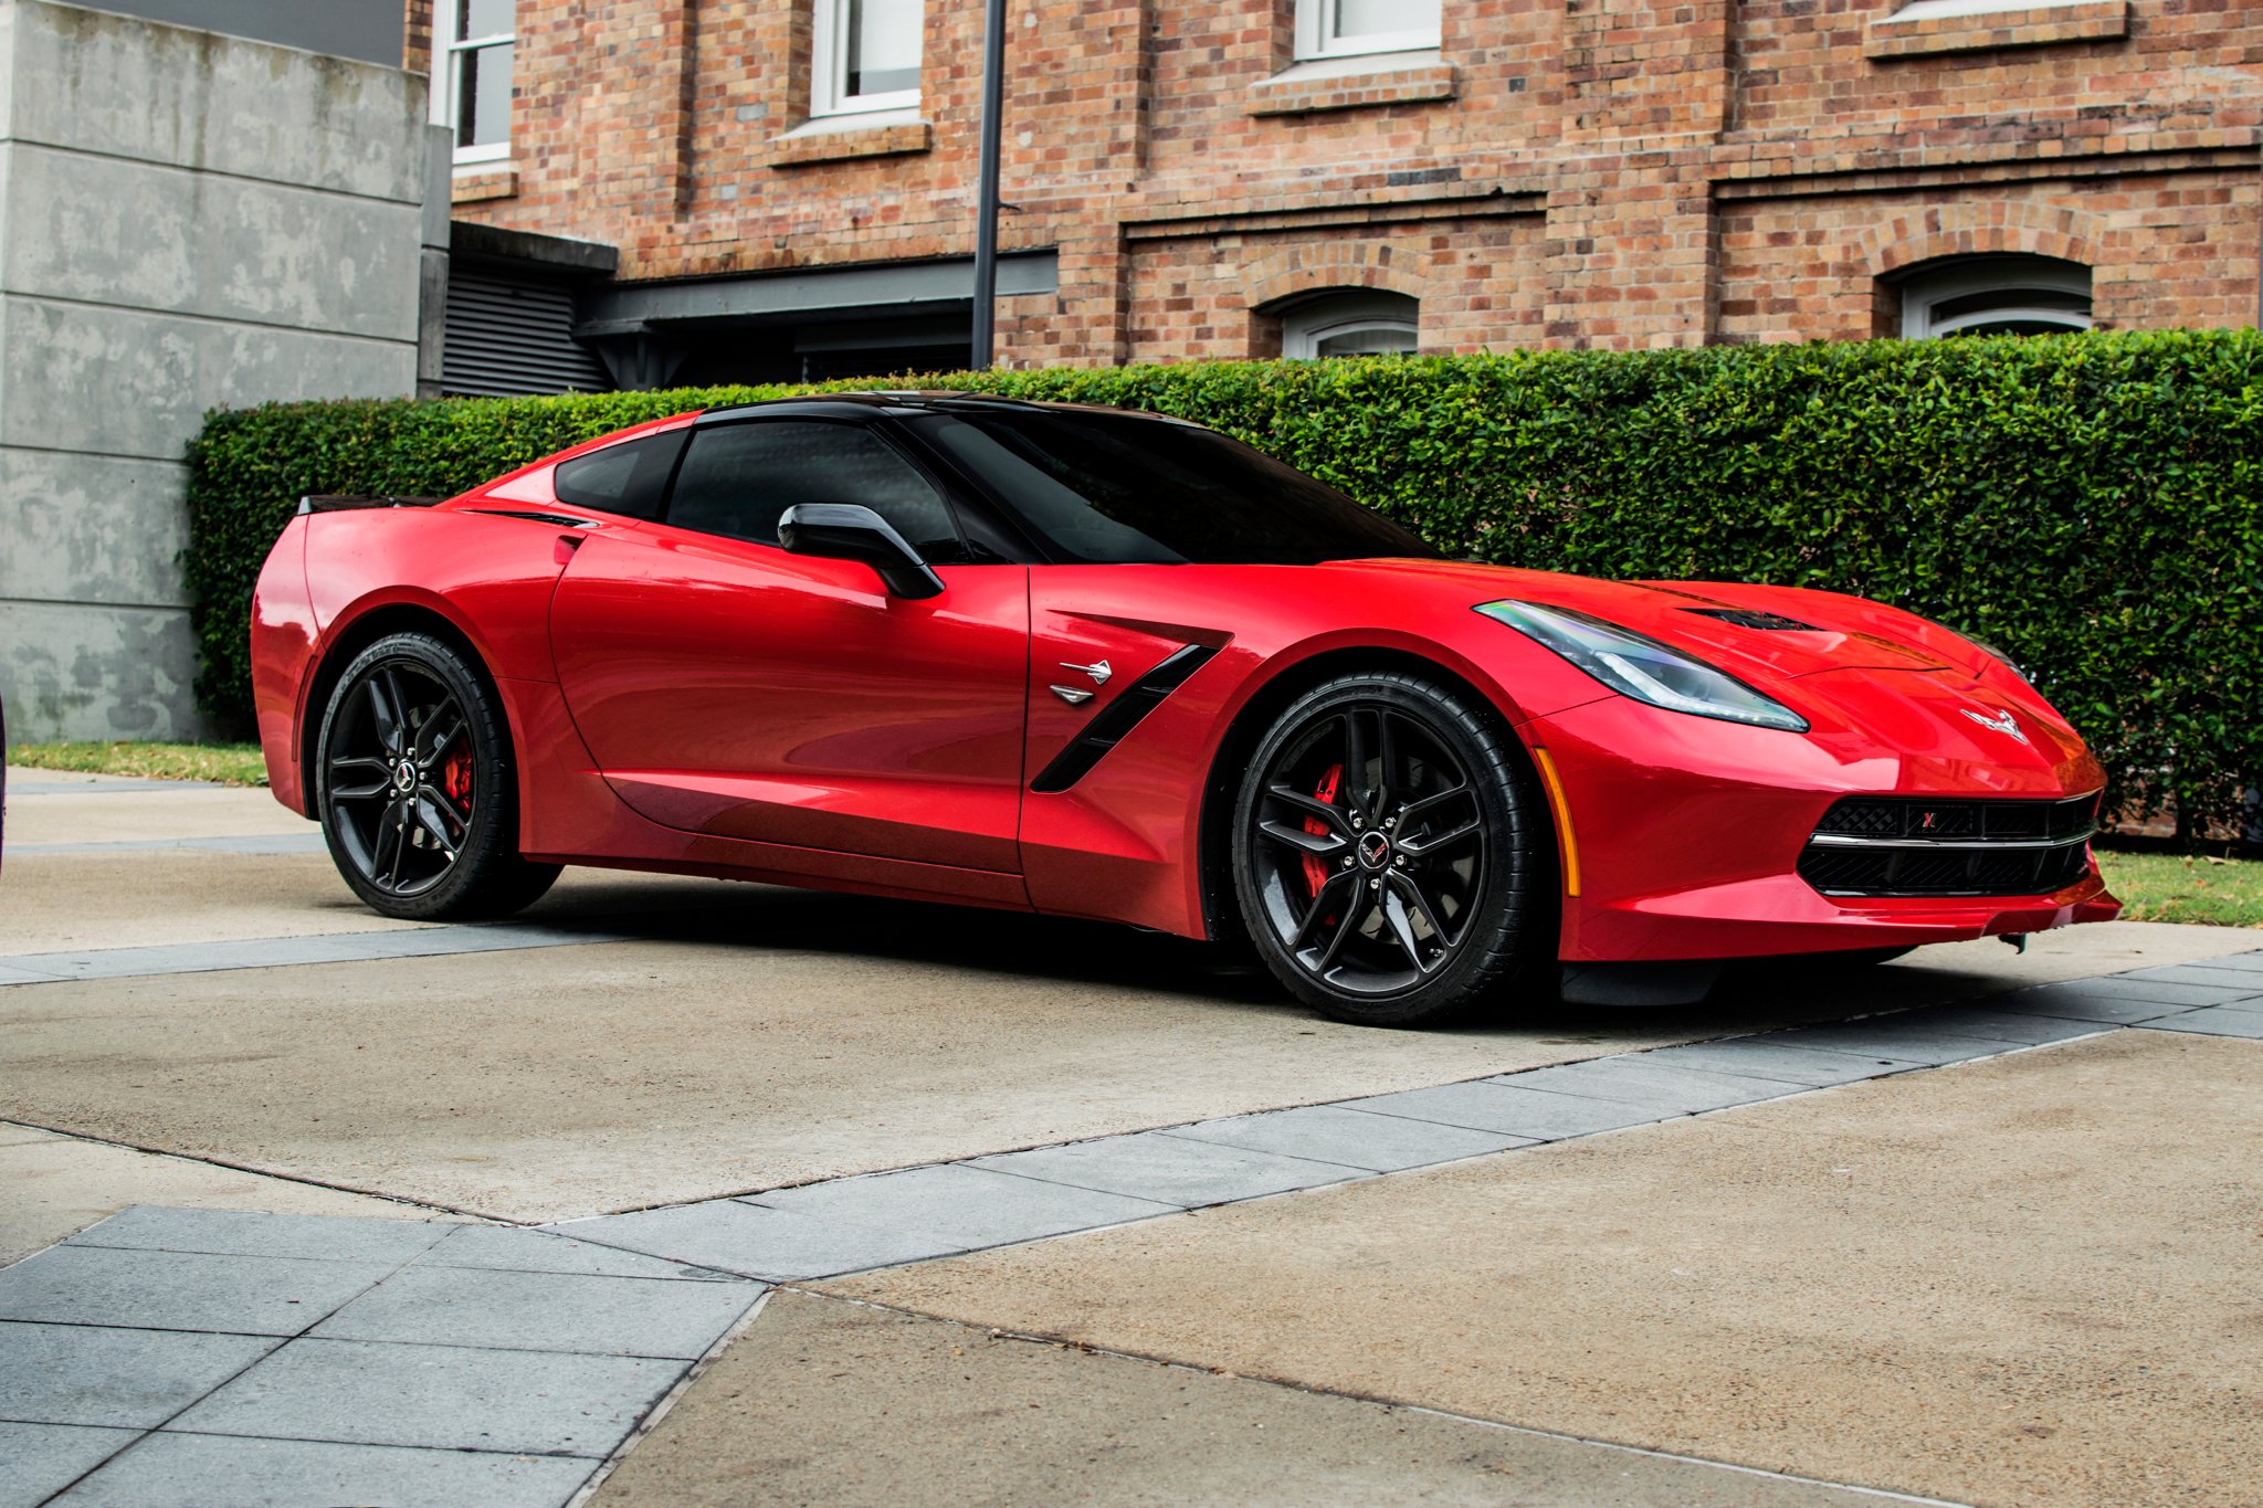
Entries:
{"label": "black front grille with silver bar on the red car", "polygon": [[2073,800],[1849,796],[1799,877],[1824,895],[2048,895],[2089,873],[2098,794]]}

